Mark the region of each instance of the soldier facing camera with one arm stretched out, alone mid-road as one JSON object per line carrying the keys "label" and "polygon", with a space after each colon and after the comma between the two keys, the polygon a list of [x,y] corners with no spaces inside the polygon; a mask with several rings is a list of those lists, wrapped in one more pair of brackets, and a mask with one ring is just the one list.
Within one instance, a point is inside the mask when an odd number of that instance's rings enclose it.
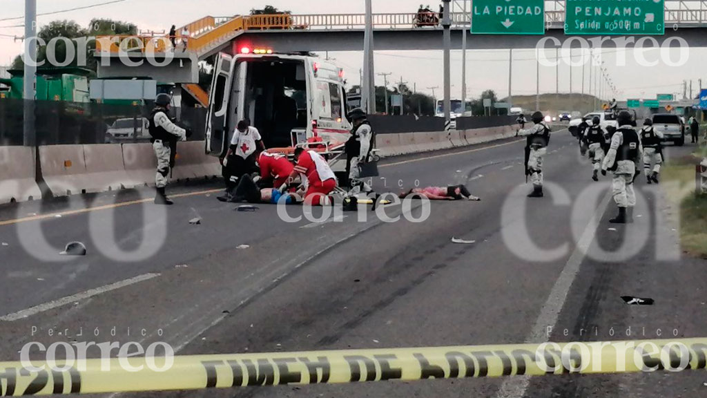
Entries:
{"label": "soldier facing camera with one arm stretched out, alone mid-road", "polygon": [[525,175],[530,176],[533,190],[528,198],[542,198],[542,159],[547,154],[547,145],[550,143],[550,127],[543,121],[541,112],[535,112],[530,117],[535,123],[529,129],[518,130],[516,135],[527,137],[525,146]]}

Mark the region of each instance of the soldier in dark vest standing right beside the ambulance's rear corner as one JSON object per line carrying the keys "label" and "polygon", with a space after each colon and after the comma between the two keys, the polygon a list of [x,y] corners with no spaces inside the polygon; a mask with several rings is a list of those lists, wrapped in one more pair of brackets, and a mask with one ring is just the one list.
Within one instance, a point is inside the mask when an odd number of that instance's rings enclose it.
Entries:
{"label": "soldier in dark vest standing right beside the ambulance's rear corner", "polygon": [[370,161],[373,142],[375,142],[373,127],[366,119],[366,113],[361,108],[354,108],[349,113],[354,124],[351,136],[346,141],[346,175],[349,176],[351,193],[370,193],[373,189],[361,180],[361,166]]}

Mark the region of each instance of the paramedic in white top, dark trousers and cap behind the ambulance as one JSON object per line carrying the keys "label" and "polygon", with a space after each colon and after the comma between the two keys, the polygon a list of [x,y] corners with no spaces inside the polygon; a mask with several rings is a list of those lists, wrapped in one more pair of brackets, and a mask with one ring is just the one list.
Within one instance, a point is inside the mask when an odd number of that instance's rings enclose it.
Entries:
{"label": "paramedic in white top, dark trousers and cap behind the ambulance", "polygon": [[252,127],[247,120],[238,122],[230,140],[230,147],[223,158],[223,179],[226,180],[226,193],[217,199],[226,202],[233,196],[233,190],[238,186],[238,178],[243,174],[258,171],[255,166],[255,150],[260,147],[265,150],[265,145],[257,128]]}

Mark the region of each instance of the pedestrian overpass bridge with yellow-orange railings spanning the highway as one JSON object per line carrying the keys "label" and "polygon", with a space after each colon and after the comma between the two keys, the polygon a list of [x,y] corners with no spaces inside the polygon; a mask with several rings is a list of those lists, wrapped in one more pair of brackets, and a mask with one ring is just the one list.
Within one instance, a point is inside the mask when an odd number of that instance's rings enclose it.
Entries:
{"label": "pedestrian overpass bridge with yellow-orange railings spanning the highway", "polygon": [[[564,34],[565,1],[545,1],[545,37],[564,42],[572,37]],[[452,49],[462,48],[462,32],[469,29],[469,13],[452,12]],[[418,23],[418,13],[373,14],[375,50],[442,50],[442,27]],[[175,83],[197,83],[200,60],[208,59],[218,52],[235,53],[240,47],[267,47],[275,52],[322,52],[363,50],[363,32],[366,25],[364,14],[309,14],[309,15],[255,15],[213,17],[206,16],[177,29],[189,31],[186,50],[177,43],[173,51],[169,38],[161,36],[125,36],[111,38],[113,42],[101,42],[98,38],[95,56],[116,58],[110,66],[99,66],[98,76],[132,77],[151,76],[159,81]],[[541,35],[472,35],[467,40],[469,50],[535,48]],[[590,40],[599,35],[583,35]],[[606,38],[607,36],[604,36]],[[665,35],[654,35],[658,45],[677,45],[677,38],[690,47],[707,47],[707,0],[665,1]],[[180,38],[177,38],[180,40]],[[553,40],[554,41],[554,40]],[[652,40],[651,40],[652,41]],[[556,42],[556,41],[555,41]],[[110,44],[107,44],[110,43]],[[672,43],[672,44],[671,44]],[[580,46],[580,40],[568,43]],[[602,43],[614,47],[611,41]],[[629,42],[626,45],[631,46]],[[655,42],[653,43],[655,45]],[[141,66],[128,67],[119,62],[122,57],[130,59],[153,55],[156,59],[173,57],[167,66],[156,67],[147,62]],[[100,65],[100,64],[99,64]],[[187,88],[197,98],[198,86]],[[193,91],[197,91],[194,93]]]}

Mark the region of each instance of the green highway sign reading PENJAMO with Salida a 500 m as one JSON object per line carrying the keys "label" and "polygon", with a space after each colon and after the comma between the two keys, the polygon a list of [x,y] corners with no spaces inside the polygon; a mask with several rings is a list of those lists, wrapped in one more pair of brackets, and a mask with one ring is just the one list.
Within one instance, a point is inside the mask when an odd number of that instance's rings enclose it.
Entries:
{"label": "green highway sign reading PENJAMO with Salida a 500 m", "polygon": [[665,0],[566,0],[566,35],[663,35]]}

